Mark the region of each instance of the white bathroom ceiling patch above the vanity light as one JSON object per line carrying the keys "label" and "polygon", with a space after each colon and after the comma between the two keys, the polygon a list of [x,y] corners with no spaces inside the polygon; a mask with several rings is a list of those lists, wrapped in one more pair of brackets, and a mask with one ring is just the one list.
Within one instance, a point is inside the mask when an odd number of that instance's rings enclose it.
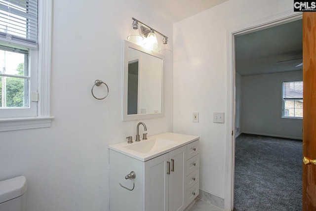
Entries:
{"label": "white bathroom ceiling patch above the vanity light", "polygon": [[141,0],[171,23],[176,23],[227,0]]}

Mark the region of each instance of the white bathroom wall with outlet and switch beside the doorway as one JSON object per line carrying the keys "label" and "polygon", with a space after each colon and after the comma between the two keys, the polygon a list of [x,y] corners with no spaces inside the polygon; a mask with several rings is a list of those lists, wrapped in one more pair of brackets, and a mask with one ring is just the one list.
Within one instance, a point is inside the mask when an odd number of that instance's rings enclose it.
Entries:
{"label": "white bathroom wall with outlet and switch beside the doorway", "polygon": [[[229,0],[174,24],[174,132],[200,136],[200,189],[225,196],[227,30],[293,9],[289,0]],[[192,123],[192,112],[199,123]],[[227,113],[225,113],[227,114]],[[225,121],[227,120],[227,115]]]}

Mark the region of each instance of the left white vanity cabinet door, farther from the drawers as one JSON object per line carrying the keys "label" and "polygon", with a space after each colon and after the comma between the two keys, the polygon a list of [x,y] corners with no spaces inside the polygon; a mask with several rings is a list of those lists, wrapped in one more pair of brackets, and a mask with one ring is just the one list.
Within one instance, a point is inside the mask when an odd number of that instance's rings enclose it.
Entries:
{"label": "left white vanity cabinet door, farther from the drawers", "polygon": [[169,162],[169,153],[144,162],[144,211],[168,211],[167,162]]}

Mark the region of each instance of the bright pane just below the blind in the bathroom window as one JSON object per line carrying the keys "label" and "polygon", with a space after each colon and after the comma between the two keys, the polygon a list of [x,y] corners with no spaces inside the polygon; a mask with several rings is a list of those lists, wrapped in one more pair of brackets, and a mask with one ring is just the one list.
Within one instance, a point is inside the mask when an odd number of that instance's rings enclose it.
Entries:
{"label": "bright pane just below the blind in the bathroom window", "polygon": [[27,54],[0,49],[0,73],[28,76],[27,59]]}

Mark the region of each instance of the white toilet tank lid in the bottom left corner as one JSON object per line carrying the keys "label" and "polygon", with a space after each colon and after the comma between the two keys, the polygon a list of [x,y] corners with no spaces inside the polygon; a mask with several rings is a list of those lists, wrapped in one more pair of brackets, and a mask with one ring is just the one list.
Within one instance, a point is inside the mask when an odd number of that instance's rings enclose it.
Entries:
{"label": "white toilet tank lid in the bottom left corner", "polygon": [[0,204],[23,195],[26,188],[25,176],[0,181]]}

